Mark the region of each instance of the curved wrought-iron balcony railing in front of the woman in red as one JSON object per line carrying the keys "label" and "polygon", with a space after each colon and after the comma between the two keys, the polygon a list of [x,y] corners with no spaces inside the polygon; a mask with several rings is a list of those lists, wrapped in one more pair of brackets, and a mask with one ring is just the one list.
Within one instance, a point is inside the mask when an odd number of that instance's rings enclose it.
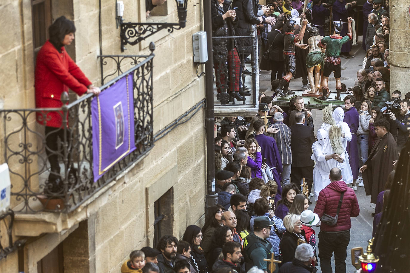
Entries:
{"label": "curved wrought-iron balcony railing in front of the woman in red", "polygon": [[[4,161],[11,176],[11,207],[15,212],[33,213],[41,210],[71,212],[114,180],[153,147],[153,57],[134,56],[138,62],[122,75],[105,83],[106,88],[130,73],[134,76],[134,132],[135,149],[117,162],[100,179],[93,179],[93,136],[91,99],[87,94],[65,104],[68,96],[62,95],[61,108],[7,109],[3,117]],[[118,71],[116,71],[118,73]],[[118,73],[119,74],[119,73]],[[105,78],[104,78],[105,79]],[[57,150],[46,145],[47,115],[57,112],[62,118],[62,134],[57,140]],[[67,124],[64,126],[64,124]],[[56,130],[59,130],[58,128]],[[47,150],[47,151],[46,151]],[[47,155],[48,153],[48,155]],[[60,173],[51,171],[50,153],[58,161]],[[53,177],[54,175],[54,177]],[[59,191],[51,191],[55,177],[60,179]],[[53,177],[52,179],[50,177]]]}

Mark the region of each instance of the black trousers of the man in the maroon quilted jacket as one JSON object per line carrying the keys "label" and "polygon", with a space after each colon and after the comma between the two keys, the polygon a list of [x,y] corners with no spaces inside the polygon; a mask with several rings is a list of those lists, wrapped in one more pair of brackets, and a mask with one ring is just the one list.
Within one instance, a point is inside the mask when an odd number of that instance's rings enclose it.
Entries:
{"label": "black trousers of the man in the maroon quilted jacket", "polygon": [[350,230],[319,232],[319,259],[322,273],[333,273],[330,259],[335,253],[335,273],[346,273],[346,250],[350,242]]}

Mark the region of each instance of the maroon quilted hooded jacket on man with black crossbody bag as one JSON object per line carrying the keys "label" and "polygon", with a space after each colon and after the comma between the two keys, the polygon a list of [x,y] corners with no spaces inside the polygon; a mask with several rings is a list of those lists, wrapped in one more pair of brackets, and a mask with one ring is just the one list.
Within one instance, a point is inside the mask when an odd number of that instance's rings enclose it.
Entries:
{"label": "maroon quilted hooded jacket on man with black crossbody bag", "polygon": [[360,209],[358,199],[352,188],[347,187],[344,181],[333,181],[319,193],[314,212],[322,218],[323,214],[335,216],[337,205],[339,204],[340,194],[344,192],[342,207],[339,211],[339,218],[336,226],[329,226],[321,223],[320,230],[325,232],[338,232],[350,230],[352,223],[350,217],[357,217]]}

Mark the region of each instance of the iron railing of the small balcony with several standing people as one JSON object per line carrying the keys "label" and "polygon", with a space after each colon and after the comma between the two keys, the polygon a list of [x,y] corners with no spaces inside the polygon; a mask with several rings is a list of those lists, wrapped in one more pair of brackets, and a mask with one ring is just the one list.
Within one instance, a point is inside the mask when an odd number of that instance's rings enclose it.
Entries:
{"label": "iron railing of the small balcony with several standing people", "polygon": [[[239,69],[242,71],[246,69],[245,59],[248,54],[243,52],[238,52],[241,59],[241,64],[237,65],[232,56],[229,56],[227,45],[231,41],[233,44],[237,44],[236,41],[239,39],[252,39],[252,50],[251,50],[251,68],[252,76],[248,80],[248,77],[244,73],[241,75],[242,85],[251,85],[251,96],[246,96],[246,100],[239,100],[234,96],[230,95],[232,86],[239,84]],[[215,86],[214,92],[215,96],[215,107],[220,106],[256,106],[257,101],[257,89],[258,89],[258,61],[257,61],[257,36],[256,30],[251,36],[220,36],[212,37],[212,49],[213,49],[213,60],[214,60],[214,70],[215,70]],[[248,91],[248,90],[243,90]]]}

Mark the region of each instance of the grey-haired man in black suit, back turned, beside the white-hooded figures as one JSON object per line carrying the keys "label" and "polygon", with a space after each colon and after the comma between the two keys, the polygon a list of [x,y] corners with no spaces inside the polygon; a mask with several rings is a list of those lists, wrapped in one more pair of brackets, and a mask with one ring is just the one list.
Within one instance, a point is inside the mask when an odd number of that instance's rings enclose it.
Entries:
{"label": "grey-haired man in black suit, back turned, beside the white-hooded figures", "polygon": [[304,125],[304,112],[296,113],[295,122],[295,125],[290,126],[292,135],[297,135],[297,137],[292,138],[290,142],[290,147],[292,149],[292,170],[290,173],[290,179],[292,183],[301,185],[301,180],[304,177],[310,193],[312,190],[314,165],[314,162],[310,157],[312,156],[312,144],[316,139],[314,137],[313,128]]}

